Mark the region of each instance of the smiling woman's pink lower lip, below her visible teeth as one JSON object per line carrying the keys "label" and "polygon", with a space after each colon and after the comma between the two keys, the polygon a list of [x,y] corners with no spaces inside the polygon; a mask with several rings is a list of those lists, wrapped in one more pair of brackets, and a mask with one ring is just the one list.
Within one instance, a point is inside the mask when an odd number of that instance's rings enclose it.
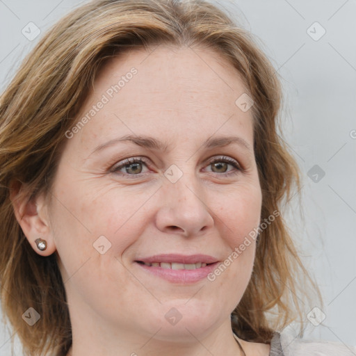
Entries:
{"label": "smiling woman's pink lower lip, below her visible teeth", "polygon": [[209,264],[205,267],[195,268],[195,270],[172,270],[171,268],[146,266],[145,264],[139,264],[138,262],[135,263],[152,275],[156,275],[172,283],[181,284],[190,284],[203,280],[219,264],[219,262],[216,262],[215,264]]}

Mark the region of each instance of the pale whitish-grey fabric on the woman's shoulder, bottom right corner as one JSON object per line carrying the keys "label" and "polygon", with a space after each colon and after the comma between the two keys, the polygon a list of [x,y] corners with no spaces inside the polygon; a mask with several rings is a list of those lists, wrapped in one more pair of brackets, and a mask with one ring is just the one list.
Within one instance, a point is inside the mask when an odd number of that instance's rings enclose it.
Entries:
{"label": "pale whitish-grey fabric on the woman's shoulder, bottom right corner", "polygon": [[356,346],[337,341],[300,339],[289,332],[280,333],[280,344],[285,356],[355,356]]}

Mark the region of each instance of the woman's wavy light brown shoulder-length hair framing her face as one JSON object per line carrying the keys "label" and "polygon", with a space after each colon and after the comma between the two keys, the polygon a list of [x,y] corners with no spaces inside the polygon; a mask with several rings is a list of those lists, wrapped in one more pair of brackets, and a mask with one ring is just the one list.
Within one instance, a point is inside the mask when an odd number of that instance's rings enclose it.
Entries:
{"label": "woman's wavy light brown shoulder-length hair framing her face", "polygon": [[[275,330],[298,321],[302,334],[307,282],[321,300],[282,212],[301,189],[300,168],[278,133],[282,85],[250,32],[207,1],[96,0],[72,10],[43,35],[0,97],[1,306],[25,355],[54,350],[66,355],[72,329],[56,254],[42,257],[33,250],[10,193],[16,188],[28,202],[40,193],[49,196],[65,132],[99,68],[124,51],[160,44],[196,45],[220,54],[241,74],[254,101],[261,219],[274,215],[275,220],[259,234],[250,281],[232,312],[232,330],[245,341],[270,343]],[[40,314],[33,326],[21,318],[29,306]]]}

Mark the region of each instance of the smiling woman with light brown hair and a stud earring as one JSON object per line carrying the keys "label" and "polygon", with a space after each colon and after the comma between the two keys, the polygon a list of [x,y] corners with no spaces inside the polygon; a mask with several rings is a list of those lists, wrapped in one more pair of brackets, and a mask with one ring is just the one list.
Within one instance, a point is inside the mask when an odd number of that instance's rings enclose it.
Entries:
{"label": "smiling woman with light brown hair and a stud earring", "polygon": [[1,301],[26,355],[350,353],[281,334],[307,282],[323,308],[283,220],[280,100],[204,1],[92,1],[44,35],[0,102]]}

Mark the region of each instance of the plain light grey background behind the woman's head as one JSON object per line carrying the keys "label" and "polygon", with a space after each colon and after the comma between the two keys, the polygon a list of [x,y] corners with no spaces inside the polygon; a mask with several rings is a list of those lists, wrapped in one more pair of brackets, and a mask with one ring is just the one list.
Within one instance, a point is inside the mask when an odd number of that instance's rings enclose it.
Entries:
{"label": "plain light grey background behind the woman's head", "polygon": [[[0,0],[1,92],[43,31],[82,2]],[[326,305],[324,325],[309,323],[305,337],[356,345],[356,1],[218,4],[259,38],[283,78],[284,134],[304,175],[306,221],[302,225],[292,209],[289,223]],[[22,34],[29,22],[42,31],[32,42]],[[318,40],[323,29],[315,22],[326,31]],[[323,178],[313,177],[314,165]],[[10,355],[11,336],[16,339],[0,325],[0,356]]]}

